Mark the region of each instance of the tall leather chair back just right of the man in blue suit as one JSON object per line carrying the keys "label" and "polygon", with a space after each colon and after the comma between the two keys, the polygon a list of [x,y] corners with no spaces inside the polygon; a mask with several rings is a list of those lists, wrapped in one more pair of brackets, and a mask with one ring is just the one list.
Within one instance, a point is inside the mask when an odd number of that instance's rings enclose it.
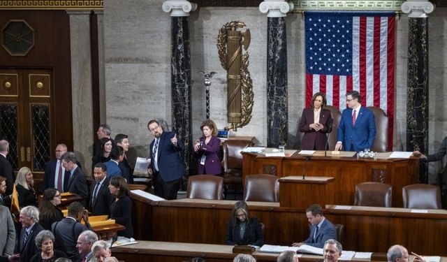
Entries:
{"label": "tall leather chair back just right of the man in blue suit", "polygon": [[376,138],[372,151],[387,152],[388,151],[388,116],[381,108],[375,106],[368,106],[374,114],[374,121],[376,122]]}

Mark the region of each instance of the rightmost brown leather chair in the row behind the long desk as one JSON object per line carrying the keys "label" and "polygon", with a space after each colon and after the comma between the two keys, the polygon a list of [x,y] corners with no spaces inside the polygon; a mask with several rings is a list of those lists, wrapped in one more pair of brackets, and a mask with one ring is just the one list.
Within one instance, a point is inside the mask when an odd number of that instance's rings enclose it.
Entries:
{"label": "rightmost brown leather chair in the row behind the long desk", "polygon": [[402,187],[404,208],[441,209],[441,190],[431,184]]}

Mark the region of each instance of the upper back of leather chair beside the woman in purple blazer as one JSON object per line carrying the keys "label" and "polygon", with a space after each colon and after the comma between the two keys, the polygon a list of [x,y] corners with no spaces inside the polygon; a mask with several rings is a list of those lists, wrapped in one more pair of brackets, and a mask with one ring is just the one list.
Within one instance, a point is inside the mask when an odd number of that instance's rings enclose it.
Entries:
{"label": "upper back of leather chair beside the woman in purple blazer", "polygon": [[250,140],[228,139],[223,141],[223,170],[240,169],[242,170],[242,150],[253,146]]}

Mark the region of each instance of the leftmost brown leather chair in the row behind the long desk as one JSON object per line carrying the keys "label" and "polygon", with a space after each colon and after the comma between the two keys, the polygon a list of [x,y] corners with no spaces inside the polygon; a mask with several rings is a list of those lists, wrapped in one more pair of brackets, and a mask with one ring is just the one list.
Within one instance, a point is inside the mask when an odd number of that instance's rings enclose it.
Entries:
{"label": "leftmost brown leather chair in the row behind the long desk", "polygon": [[223,199],[223,178],[217,175],[191,175],[186,198]]}

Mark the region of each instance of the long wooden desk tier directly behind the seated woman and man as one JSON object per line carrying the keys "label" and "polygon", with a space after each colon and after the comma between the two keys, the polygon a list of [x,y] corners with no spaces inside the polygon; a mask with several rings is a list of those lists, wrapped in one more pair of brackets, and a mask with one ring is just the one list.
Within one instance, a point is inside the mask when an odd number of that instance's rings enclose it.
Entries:
{"label": "long wooden desk tier directly behind the seated woman and man", "polygon": [[[182,199],[150,202],[133,198],[135,239],[223,244],[235,201]],[[265,224],[265,243],[291,245],[309,237],[305,209],[280,208],[279,203],[249,202],[251,215]],[[135,208],[137,206],[138,208]],[[416,254],[447,256],[447,210],[413,213],[404,208],[328,206],[325,217],[344,225],[344,249],[386,253],[400,243]],[[137,224],[138,223],[138,224]]]}

